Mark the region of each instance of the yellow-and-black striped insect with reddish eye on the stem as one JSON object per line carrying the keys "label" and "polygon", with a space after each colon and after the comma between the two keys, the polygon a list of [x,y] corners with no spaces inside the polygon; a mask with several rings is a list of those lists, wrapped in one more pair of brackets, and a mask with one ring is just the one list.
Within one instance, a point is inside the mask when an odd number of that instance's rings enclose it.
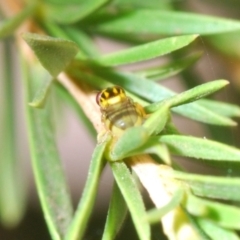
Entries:
{"label": "yellow-and-black striped insect with reddish eye on the stem", "polygon": [[119,86],[103,89],[97,94],[96,102],[100,106],[106,129],[115,134],[142,125],[145,120],[143,107],[133,102]]}

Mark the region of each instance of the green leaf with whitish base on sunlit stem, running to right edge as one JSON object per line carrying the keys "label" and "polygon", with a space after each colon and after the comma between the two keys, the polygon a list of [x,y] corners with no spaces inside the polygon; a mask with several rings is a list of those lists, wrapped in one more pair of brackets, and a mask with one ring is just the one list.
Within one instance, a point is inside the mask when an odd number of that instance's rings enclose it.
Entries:
{"label": "green leaf with whitish base on sunlit stem, running to right edge", "polygon": [[182,180],[195,195],[240,201],[240,178],[190,174],[168,169],[160,169],[159,174],[164,178]]}

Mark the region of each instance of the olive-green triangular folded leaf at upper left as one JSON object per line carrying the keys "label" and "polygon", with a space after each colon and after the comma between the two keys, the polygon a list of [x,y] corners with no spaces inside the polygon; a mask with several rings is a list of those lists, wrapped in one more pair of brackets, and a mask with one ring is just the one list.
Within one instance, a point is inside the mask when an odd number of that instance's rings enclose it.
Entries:
{"label": "olive-green triangular folded leaf at upper left", "polygon": [[53,77],[69,65],[79,50],[72,41],[39,34],[24,33],[23,39]]}

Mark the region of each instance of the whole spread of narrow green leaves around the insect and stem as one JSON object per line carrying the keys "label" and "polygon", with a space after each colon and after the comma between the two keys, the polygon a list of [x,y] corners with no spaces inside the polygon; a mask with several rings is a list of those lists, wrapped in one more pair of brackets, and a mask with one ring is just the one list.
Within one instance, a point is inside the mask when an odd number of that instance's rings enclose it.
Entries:
{"label": "whole spread of narrow green leaves around the insect and stem", "polygon": [[[46,0],[42,3],[31,3],[22,12],[6,20],[1,26],[0,36],[6,37],[13,33],[30,17],[33,24],[38,24],[47,35],[52,36],[33,33],[23,35],[44,68],[29,60],[21,49],[25,98],[26,102],[30,103],[30,106],[26,107],[26,115],[32,166],[52,239],[83,238],[93,209],[99,179],[106,163],[106,155],[117,184],[114,185],[102,239],[115,238],[124,222],[127,209],[131,213],[139,238],[150,239],[150,223],[159,221],[177,206],[184,209],[190,219],[189,224],[191,222],[199,238],[239,239],[235,230],[239,230],[240,226],[240,209],[230,204],[209,200],[217,198],[229,202],[239,201],[239,178],[189,174],[180,171],[180,166],[175,166],[178,170],[174,171],[166,171],[159,167],[159,176],[163,179],[169,182],[178,179],[177,191],[173,193],[169,204],[147,212],[133,176],[121,161],[126,157],[153,153],[161,159],[160,163],[167,164],[171,164],[172,154],[209,160],[216,167],[219,162],[238,162],[239,149],[216,141],[181,135],[169,117],[172,110],[206,124],[235,126],[232,118],[240,116],[239,107],[201,99],[220,90],[228,82],[215,80],[181,94],[176,94],[155,82],[174,76],[191,66],[200,58],[199,54],[134,73],[122,72],[115,67],[170,54],[188,46],[198,37],[197,34],[209,36],[240,30],[240,22],[175,11],[170,3],[158,1],[148,1],[145,4],[137,0],[112,2],[95,0],[79,3],[61,1],[61,4],[58,1],[56,4],[54,1]],[[92,39],[92,36],[97,34],[138,45],[101,56]],[[181,35],[175,36],[176,34]],[[162,38],[162,35],[165,37]],[[221,48],[222,45],[220,46],[214,39],[218,39],[217,36],[211,38],[212,44],[216,43]],[[26,194],[22,190],[24,187],[17,185],[22,181],[19,181],[21,172],[14,156],[11,82],[13,76],[8,51],[9,46],[4,53],[6,74],[3,79],[6,104],[1,111],[4,126],[8,127],[3,128],[4,141],[1,140],[1,149],[4,151],[1,153],[3,155],[0,186],[5,187],[0,190],[0,216],[2,222],[11,225],[18,222],[24,212]],[[79,115],[85,118],[73,97],[56,81],[62,71],[75,81],[94,89],[102,89],[112,84],[120,85],[135,101],[143,104],[149,114],[143,126],[127,130],[110,149],[111,151],[107,148],[111,136],[96,146],[86,186],[75,213],[54,139],[51,99],[47,98],[49,89],[56,89],[59,97],[70,103]],[[93,133],[94,130],[88,120],[85,121]]]}

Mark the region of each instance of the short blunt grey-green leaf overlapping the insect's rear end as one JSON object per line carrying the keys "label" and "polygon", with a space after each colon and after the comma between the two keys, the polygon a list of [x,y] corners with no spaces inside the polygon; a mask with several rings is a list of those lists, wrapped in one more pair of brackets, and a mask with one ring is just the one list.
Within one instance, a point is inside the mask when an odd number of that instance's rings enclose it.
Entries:
{"label": "short blunt grey-green leaf overlapping the insect's rear end", "polygon": [[109,160],[123,159],[129,152],[143,145],[148,137],[148,131],[141,126],[127,129],[118,141],[114,143],[109,153]]}

